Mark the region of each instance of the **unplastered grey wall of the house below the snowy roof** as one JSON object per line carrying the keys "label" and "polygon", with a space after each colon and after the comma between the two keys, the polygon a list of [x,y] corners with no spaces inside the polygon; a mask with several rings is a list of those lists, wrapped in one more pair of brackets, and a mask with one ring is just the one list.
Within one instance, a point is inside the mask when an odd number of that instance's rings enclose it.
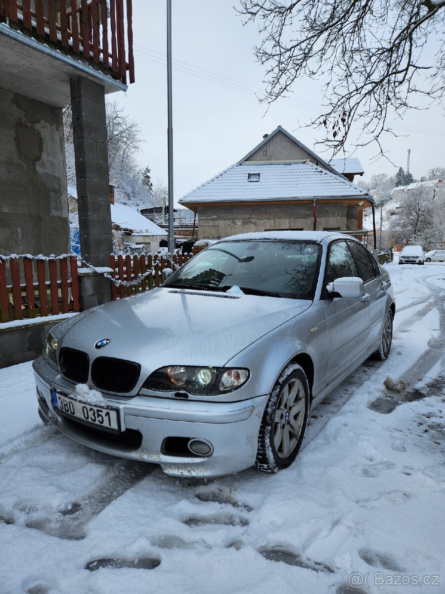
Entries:
{"label": "unplastered grey wall of the house below the snowy roof", "polygon": [[[317,204],[317,230],[346,228],[344,203]],[[205,204],[198,207],[199,239],[276,229],[311,231],[312,204]],[[355,227],[357,228],[357,226]]]}

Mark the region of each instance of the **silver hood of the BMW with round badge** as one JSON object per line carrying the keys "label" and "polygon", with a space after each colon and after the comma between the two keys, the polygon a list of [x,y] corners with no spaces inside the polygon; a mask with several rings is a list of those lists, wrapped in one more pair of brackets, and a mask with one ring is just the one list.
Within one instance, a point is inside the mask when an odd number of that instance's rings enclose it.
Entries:
{"label": "silver hood of the BMW with round badge", "polygon": [[[310,301],[159,288],[96,308],[59,345],[135,361],[151,373],[166,365],[224,366],[234,355],[311,305]],[[96,349],[100,339],[109,345]]]}

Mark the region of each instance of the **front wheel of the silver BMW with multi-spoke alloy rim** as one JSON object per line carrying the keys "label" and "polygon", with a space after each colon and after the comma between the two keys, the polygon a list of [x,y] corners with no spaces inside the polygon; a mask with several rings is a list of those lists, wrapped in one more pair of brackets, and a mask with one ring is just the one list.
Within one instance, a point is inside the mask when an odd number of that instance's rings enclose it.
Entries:
{"label": "front wheel of the silver BMW with multi-spoke alloy rim", "polygon": [[263,413],[255,468],[275,473],[290,466],[300,450],[309,413],[309,383],[300,365],[287,365]]}

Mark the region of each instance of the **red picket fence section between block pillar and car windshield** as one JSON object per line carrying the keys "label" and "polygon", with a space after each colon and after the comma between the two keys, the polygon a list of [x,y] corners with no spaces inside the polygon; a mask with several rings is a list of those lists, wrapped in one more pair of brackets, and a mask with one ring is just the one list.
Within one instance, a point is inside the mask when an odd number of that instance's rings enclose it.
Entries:
{"label": "red picket fence section between block pillar and car windshield", "polygon": [[[181,267],[192,255],[174,254],[172,260],[175,267]],[[110,268],[114,270],[112,276],[116,280],[133,283],[132,285],[120,285],[111,281],[112,301],[143,293],[158,287],[162,284],[162,271],[164,268],[171,268],[171,263],[164,257],[157,254],[145,255],[122,255],[110,256]],[[147,274],[151,270],[151,274]]]}

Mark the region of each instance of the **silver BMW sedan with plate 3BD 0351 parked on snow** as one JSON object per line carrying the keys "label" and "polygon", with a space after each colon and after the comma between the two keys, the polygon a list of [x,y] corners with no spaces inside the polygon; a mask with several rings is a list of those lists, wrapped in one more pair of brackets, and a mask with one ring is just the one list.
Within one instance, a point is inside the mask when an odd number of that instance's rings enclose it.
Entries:
{"label": "silver BMW sedan with plate 3BD 0351 parked on snow", "polygon": [[55,326],[33,364],[39,415],[168,475],[276,472],[309,409],[387,358],[394,315],[389,274],[357,239],[231,236],[163,286]]}

